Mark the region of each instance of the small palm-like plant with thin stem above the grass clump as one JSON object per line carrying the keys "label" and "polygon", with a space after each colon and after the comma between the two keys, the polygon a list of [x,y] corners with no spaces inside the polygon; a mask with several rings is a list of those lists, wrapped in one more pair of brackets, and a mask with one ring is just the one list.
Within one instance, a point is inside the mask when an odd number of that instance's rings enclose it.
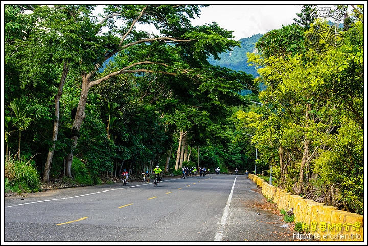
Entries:
{"label": "small palm-like plant with thin stem above the grass clump", "polygon": [[38,105],[28,107],[25,98],[15,98],[13,101],[10,102],[9,107],[13,110],[15,115],[15,117],[13,117],[14,126],[16,126],[17,130],[19,130],[18,160],[20,161],[21,132],[26,130],[35,118],[42,117],[41,107]]}

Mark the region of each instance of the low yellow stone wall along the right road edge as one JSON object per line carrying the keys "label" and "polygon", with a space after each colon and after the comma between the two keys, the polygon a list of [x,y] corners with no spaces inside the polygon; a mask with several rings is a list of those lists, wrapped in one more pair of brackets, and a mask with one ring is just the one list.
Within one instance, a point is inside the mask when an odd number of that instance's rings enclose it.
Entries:
{"label": "low yellow stone wall along the right road edge", "polygon": [[283,189],[270,185],[257,175],[249,174],[262,194],[277,204],[279,210],[286,212],[293,208],[294,222],[303,223],[306,232],[320,241],[364,241],[363,216],[338,210],[333,206],[303,199]]}

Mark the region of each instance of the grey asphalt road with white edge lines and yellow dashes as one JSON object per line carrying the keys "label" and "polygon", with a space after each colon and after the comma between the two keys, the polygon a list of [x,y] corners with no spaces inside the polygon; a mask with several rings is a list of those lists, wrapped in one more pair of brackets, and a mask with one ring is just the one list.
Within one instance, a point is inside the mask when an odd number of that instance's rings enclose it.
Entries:
{"label": "grey asphalt road with white edge lines and yellow dashes", "polygon": [[130,182],[5,198],[4,245],[301,241],[262,209],[267,200],[257,189],[247,176],[212,174],[163,178],[158,187]]}

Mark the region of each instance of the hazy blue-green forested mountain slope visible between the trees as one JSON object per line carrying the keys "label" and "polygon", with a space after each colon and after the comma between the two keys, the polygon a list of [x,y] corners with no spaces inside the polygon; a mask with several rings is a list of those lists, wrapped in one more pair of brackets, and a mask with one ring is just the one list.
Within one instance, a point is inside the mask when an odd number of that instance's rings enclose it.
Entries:
{"label": "hazy blue-green forested mountain slope visible between the trees", "polygon": [[248,58],[246,54],[255,51],[254,44],[262,37],[262,34],[255,34],[249,38],[242,38],[241,47],[235,47],[233,51],[221,53],[219,55],[220,60],[214,60],[209,58],[209,63],[213,66],[226,67],[235,71],[243,71],[245,73],[258,77],[256,68],[254,66],[248,66]]}

